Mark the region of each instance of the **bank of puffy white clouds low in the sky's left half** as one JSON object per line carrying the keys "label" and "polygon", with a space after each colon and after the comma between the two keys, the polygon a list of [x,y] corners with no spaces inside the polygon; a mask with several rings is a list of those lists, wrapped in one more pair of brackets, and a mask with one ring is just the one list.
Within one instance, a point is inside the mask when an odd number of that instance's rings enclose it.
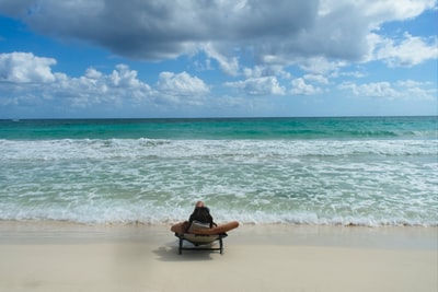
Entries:
{"label": "bank of puffy white clouds low in the sky's left half", "polygon": [[169,102],[172,101],[170,95],[174,102],[192,103],[194,100],[187,96],[196,97],[210,92],[201,79],[187,72],[162,72],[152,87],[139,80],[138,72],[126,65],[117,65],[110,73],[89,68],[78,78],[53,72],[54,65],[55,59],[31,52],[0,54],[1,104],[53,100],[73,107],[89,107],[96,104],[157,102],[160,98]]}

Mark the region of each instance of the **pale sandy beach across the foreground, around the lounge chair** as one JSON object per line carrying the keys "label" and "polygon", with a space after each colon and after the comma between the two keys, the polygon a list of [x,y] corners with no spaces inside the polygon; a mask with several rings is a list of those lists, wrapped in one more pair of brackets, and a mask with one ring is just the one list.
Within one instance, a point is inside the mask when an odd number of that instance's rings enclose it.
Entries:
{"label": "pale sandy beach across the foreground, around the lounge chair", "polygon": [[436,227],[243,224],[223,255],[177,255],[169,229],[0,222],[0,291],[438,289]]}

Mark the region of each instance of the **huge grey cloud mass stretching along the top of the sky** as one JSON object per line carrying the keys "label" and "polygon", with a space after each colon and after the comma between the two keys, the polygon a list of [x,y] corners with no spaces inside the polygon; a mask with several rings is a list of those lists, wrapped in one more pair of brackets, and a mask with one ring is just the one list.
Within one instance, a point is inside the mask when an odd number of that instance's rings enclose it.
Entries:
{"label": "huge grey cloud mass stretching along the top of the sky", "polygon": [[281,66],[312,57],[369,59],[369,36],[381,23],[433,7],[433,0],[0,0],[0,13],[44,35],[145,60],[204,50],[223,67],[237,51]]}

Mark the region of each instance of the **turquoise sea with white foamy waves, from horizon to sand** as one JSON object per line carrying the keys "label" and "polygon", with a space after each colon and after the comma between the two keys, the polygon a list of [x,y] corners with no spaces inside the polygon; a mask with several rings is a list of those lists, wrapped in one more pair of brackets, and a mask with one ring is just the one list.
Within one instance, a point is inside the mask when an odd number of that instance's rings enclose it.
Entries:
{"label": "turquoise sea with white foamy waves, from horizon to sand", "polygon": [[0,220],[438,225],[437,117],[0,120]]}

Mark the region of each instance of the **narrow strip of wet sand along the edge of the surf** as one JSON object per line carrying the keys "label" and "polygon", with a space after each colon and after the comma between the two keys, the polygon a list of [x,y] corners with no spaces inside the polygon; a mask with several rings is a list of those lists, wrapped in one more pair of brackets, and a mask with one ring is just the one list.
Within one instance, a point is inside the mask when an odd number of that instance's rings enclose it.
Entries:
{"label": "narrow strip of wet sand along the edge of the surf", "polygon": [[[0,245],[23,243],[163,243],[172,223],[89,224],[71,221],[0,220]],[[220,223],[219,223],[220,224]],[[237,234],[237,235],[234,235]],[[366,248],[438,248],[438,226],[245,224],[230,232],[237,244],[315,245]]]}

